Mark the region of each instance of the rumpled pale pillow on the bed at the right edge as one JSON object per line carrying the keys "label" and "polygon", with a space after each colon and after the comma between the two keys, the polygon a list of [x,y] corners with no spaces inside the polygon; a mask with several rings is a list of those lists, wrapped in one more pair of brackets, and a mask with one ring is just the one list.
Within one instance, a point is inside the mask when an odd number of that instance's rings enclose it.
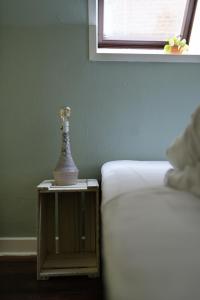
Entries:
{"label": "rumpled pale pillow on the bed at the right edge", "polygon": [[165,184],[200,196],[200,106],[192,114],[191,122],[167,150],[174,169],[165,176]]}

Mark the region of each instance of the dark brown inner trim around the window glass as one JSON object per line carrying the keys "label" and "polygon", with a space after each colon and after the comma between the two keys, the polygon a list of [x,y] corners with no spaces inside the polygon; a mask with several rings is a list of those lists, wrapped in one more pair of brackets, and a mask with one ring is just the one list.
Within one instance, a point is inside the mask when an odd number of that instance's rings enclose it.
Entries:
{"label": "dark brown inner trim around the window glass", "polygon": [[[182,23],[181,38],[189,44],[198,0],[188,0]],[[98,0],[98,47],[161,49],[166,41],[105,40],[103,38],[104,0]]]}

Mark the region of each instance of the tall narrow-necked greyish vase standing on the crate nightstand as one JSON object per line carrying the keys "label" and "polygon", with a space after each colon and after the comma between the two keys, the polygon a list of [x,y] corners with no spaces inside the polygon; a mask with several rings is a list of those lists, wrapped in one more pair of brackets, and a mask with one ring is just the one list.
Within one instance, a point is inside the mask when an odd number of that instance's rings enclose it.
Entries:
{"label": "tall narrow-necked greyish vase standing on the crate nightstand", "polygon": [[71,155],[70,138],[69,138],[69,117],[71,109],[63,107],[60,110],[61,130],[62,130],[62,147],[61,153],[53,172],[55,185],[73,185],[78,180],[78,169]]}

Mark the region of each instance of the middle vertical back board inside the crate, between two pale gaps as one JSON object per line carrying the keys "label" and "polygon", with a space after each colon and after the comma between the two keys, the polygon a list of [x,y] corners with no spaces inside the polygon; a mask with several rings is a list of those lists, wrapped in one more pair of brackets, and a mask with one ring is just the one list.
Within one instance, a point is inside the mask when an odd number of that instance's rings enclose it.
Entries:
{"label": "middle vertical back board inside the crate, between two pale gaps", "polygon": [[58,194],[59,252],[80,250],[80,193]]}

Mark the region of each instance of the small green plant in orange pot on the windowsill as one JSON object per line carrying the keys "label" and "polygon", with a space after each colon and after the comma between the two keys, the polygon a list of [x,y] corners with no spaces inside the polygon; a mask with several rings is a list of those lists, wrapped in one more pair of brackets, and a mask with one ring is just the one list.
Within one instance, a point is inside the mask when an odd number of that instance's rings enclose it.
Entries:
{"label": "small green plant in orange pot on the windowsill", "polygon": [[188,51],[188,45],[185,39],[181,37],[172,37],[167,40],[167,44],[164,46],[164,51],[167,54],[182,54]]}

